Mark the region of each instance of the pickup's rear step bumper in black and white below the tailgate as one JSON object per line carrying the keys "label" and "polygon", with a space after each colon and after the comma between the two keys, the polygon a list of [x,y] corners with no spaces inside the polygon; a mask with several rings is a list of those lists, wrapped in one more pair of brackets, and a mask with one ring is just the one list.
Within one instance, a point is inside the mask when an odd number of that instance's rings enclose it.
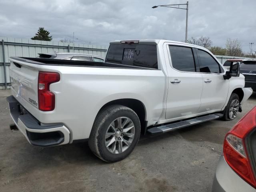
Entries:
{"label": "pickup's rear step bumper in black and white below the tailgate", "polygon": [[41,122],[23,108],[14,96],[9,96],[6,100],[12,120],[30,144],[48,147],[69,143],[70,131],[63,124],[42,126]]}

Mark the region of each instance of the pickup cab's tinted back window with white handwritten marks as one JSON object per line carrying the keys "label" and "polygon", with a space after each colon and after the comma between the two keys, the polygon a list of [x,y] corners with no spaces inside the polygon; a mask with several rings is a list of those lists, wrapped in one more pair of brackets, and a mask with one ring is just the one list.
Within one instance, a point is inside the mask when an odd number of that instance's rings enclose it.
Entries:
{"label": "pickup cab's tinted back window with white handwritten marks", "polygon": [[157,69],[156,45],[110,44],[105,62]]}

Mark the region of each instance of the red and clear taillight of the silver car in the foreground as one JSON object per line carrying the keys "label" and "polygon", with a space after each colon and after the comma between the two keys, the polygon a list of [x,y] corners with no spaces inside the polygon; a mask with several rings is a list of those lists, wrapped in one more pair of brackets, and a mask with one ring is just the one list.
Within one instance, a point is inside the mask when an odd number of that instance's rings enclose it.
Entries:
{"label": "red and clear taillight of the silver car in the foreground", "polygon": [[246,140],[256,127],[256,107],[246,114],[226,135],[223,153],[229,166],[246,182],[256,187],[256,177],[252,167],[252,157],[248,154]]}

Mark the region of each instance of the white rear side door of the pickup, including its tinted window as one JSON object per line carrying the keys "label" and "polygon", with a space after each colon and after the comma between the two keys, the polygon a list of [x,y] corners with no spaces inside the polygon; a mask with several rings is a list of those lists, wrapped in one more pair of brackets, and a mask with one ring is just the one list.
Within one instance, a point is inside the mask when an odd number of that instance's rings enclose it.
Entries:
{"label": "white rear side door of the pickup, including its tinted window", "polygon": [[168,93],[166,119],[188,118],[197,114],[201,105],[202,74],[196,72],[198,59],[193,46],[166,44],[170,66],[168,68]]}

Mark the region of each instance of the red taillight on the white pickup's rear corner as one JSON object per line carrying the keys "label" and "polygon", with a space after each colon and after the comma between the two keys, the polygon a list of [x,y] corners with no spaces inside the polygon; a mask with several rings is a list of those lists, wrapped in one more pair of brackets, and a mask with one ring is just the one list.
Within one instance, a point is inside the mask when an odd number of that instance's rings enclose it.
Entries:
{"label": "red taillight on the white pickup's rear corner", "polygon": [[55,107],[55,95],[50,91],[50,84],[58,82],[60,74],[42,72],[38,74],[38,108],[41,111],[52,111]]}

